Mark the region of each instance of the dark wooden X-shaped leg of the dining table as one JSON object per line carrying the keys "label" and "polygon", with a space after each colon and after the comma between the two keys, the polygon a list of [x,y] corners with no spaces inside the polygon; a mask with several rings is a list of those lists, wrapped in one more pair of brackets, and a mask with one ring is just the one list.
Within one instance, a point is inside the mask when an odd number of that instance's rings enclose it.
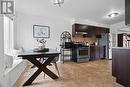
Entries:
{"label": "dark wooden X-shaped leg of the dining table", "polygon": [[23,86],[31,85],[36,77],[43,71],[45,74],[50,76],[52,79],[57,79],[58,76],[51,72],[46,66],[55,58],[55,56],[49,57],[43,64],[40,63],[36,58],[26,58],[28,61],[38,67],[38,70],[24,83]]}

